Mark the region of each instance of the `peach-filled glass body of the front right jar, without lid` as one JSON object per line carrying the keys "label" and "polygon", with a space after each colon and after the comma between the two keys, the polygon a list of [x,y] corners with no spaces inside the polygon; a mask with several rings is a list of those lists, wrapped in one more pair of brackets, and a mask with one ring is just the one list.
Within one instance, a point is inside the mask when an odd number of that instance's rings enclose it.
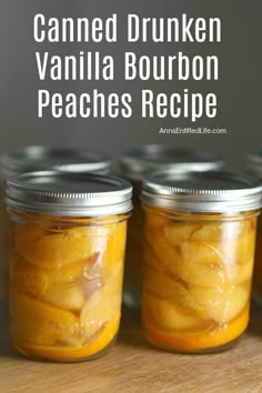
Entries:
{"label": "peach-filled glass body of the front right jar, without lid", "polygon": [[171,351],[201,352],[240,336],[249,321],[259,211],[143,209],[142,319],[150,341]]}

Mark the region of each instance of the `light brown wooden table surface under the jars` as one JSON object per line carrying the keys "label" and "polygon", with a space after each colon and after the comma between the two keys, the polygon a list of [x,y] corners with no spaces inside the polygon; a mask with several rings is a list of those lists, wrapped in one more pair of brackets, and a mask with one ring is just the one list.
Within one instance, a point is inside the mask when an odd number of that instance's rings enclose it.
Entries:
{"label": "light brown wooden table surface under the jars", "polygon": [[0,337],[0,393],[9,392],[262,392],[262,311],[249,331],[223,353],[180,355],[159,351],[143,337],[137,313],[124,311],[119,339],[103,357],[83,363],[43,363],[20,356]]}

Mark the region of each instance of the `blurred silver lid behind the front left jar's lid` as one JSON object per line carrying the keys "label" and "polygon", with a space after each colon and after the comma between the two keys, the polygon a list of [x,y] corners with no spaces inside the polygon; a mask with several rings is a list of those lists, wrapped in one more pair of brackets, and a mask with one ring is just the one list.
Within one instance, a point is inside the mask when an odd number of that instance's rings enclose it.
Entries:
{"label": "blurred silver lid behind the front left jar's lid", "polygon": [[73,148],[30,145],[0,155],[0,174],[4,179],[38,170],[109,173],[111,165],[104,153]]}

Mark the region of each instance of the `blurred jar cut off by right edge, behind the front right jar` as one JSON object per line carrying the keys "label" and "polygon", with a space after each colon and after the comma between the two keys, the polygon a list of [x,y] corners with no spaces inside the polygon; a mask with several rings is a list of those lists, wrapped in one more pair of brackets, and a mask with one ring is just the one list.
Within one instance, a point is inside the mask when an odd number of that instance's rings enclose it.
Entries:
{"label": "blurred jar cut off by right edge, behind the front right jar", "polygon": [[[246,167],[252,175],[260,179],[262,183],[262,151],[256,151],[248,155]],[[256,245],[254,259],[254,274],[252,298],[255,303],[262,306],[262,216],[258,220]]]}

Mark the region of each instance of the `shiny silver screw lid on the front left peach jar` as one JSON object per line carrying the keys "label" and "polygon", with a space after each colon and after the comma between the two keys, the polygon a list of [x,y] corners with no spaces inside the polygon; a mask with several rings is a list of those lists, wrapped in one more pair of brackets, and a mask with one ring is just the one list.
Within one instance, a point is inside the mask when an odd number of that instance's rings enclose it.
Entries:
{"label": "shiny silver screw lid on the front left peach jar", "polygon": [[67,216],[120,214],[132,209],[132,185],[90,173],[29,172],[7,182],[11,209]]}

